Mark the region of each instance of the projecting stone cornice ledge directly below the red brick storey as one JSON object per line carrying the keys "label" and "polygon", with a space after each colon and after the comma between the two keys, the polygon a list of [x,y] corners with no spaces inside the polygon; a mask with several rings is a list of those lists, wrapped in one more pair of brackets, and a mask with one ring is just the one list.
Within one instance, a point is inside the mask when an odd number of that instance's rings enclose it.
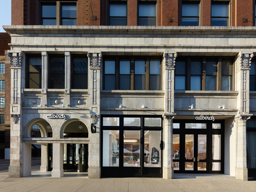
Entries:
{"label": "projecting stone cornice ledge directly below the red brick storey", "polygon": [[256,35],[256,27],[216,26],[3,26],[11,34]]}

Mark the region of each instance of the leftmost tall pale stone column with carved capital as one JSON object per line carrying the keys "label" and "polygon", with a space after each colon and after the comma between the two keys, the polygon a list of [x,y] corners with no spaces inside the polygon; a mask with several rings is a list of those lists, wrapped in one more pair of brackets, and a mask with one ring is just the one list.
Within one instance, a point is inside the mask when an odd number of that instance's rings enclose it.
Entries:
{"label": "leftmost tall pale stone column with carved capital", "polygon": [[[23,176],[22,166],[22,109],[21,109],[21,66],[23,54],[8,53],[11,65],[11,148],[9,177],[19,178]],[[23,87],[22,87],[23,88]],[[30,154],[31,158],[31,154]]]}

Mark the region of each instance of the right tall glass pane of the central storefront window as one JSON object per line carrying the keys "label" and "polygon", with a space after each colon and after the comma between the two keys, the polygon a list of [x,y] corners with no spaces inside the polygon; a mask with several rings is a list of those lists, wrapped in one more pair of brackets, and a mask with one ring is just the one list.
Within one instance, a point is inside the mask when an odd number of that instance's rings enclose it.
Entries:
{"label": "right tall glass pane of the central storefront window", "polygon": [[161,131],[144,131],[144,166],[161,167]]}

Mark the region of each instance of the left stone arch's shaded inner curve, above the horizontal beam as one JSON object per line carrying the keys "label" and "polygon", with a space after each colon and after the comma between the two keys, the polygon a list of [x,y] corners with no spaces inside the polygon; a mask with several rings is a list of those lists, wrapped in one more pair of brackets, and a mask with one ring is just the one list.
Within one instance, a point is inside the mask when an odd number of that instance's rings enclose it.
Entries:
{"label": "left stone arch's shaded inner curve, above the horizontal beam", "polygon": [[[35,118],[27,123],[25,127],[25,131],[23,132],[23,138],[30,138],[31,130],[33,128],[33,125],[35,124],[39,127],[42,138],[47,138],[48,137],[47,133],[52,132],[52,126],[50,125],[49,122],[47,122],[43,118]],[[49,129],[46,128],[47,125],[50,125]]]}

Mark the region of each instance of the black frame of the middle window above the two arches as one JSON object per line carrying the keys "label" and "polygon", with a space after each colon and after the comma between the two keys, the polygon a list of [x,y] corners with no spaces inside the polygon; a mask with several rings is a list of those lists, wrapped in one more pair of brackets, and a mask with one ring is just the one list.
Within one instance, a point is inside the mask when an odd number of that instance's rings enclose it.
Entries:
{"label": "black frame of the middle window above the two arches", "polygon": [[[51,60],[52,59],[54,59],[54,58],[61,58],[61,59],[63,59],[63,61],[64,61],[64,71],[63,71],[63,73],[52,73],[52,64],[51,64]],[[48,75],[48,77],[49,77],[49,79],[48,79],[48,87],[49,87],[49,89],[65,89],[65,70],[66,70],[66,66],[65,66],[65,55],[63,55],[63,54],[53,54],[53,55],[49,55],[49,61],[48,61],[48,73],[49,73],[49,75]],[[51,77],[52,77],[52,74],[63,74],[63,87],[53,87],[53,82],[52,82],[52,79],[51,79]]]}

